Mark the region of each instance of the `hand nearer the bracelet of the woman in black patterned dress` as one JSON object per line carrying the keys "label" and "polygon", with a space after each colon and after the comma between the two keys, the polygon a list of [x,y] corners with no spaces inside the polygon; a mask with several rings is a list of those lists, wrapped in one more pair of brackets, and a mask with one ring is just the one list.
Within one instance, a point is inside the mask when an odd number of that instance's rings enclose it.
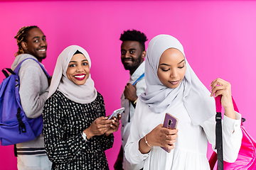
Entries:
{"label": "hand nearer the bracelet of the woman in black patterned dress", "polygon": [[105,116],[96,118],[90,125],[90,127],[83,132],[85,132],[88,140],[95,135],[103,135],[105,132],[107,132],[107,130],[110,130],[110,125],[112,125],[112,121],[113,120],[108,120]]}

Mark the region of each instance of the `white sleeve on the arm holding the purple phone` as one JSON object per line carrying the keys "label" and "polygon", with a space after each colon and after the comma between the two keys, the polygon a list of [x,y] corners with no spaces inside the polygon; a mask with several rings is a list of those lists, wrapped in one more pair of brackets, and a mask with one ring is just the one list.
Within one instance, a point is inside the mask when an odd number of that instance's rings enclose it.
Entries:
{"label": "white sleeve on the arm holding the purple phone", "polygon": [[[139,135],[139,119],[140,115],[142,115],[139,112],[140,108],[140,101],[138,100],[137,107],[134,111],[134,118],[132,120],[131,130],[130,134],[127,140],[127,144],[124,147],[124,153],[125,157],[131,164],[140,164],[144,162],[144,160],[149,156],[150,152],[148,154],[142,154],[139,151],[139,140],[141,140],[143,136]],[[146,135],[146,134],[145,134]]]}

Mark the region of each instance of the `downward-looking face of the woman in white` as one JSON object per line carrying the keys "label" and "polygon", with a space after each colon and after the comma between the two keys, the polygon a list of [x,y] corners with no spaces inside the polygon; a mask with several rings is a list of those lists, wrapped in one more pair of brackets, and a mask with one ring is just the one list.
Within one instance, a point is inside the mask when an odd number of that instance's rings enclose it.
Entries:
{"label": "downward-looking face of the woman in white", "polygon": [[176,48],[163,52],[159,60],[157,76],[164,86],[175,89],[181,84],[186,73],[186,62],[183,54]]}

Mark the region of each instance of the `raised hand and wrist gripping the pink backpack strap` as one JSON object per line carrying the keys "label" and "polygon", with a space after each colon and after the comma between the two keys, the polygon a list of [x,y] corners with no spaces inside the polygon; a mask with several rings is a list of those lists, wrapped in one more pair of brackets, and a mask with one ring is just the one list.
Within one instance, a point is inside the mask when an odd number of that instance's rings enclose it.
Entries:
{"label": "raised hand and wrist gripping the pink backpack strap", "polygon": [[235,111],[233,107],[233,101],[231,96],[231,84],[223,79],[215,79],[211,82],[211,94],[210,96],[221,97],[221,104],[225,109],[225,115],[229,118],[235,119]]}

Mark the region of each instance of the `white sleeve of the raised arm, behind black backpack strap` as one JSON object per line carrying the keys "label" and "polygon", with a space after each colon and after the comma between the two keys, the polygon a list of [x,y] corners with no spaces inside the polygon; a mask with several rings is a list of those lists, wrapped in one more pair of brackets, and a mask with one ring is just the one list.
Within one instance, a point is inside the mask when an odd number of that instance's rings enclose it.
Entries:
{"label": "white sleeve of the raised arm, behind black backpack strap", "polygon": [[[238,152],[242,143],[242,130],[240,128],[241,115],[235,112],[236,120],[228,118],[224,115],[223,118],[223,159],[225,162],[235,162],[238,158]],[[215,150],[215,115],[206,120],[201,124],[204,132],[206,132],[206,137],[208,142]]]}

